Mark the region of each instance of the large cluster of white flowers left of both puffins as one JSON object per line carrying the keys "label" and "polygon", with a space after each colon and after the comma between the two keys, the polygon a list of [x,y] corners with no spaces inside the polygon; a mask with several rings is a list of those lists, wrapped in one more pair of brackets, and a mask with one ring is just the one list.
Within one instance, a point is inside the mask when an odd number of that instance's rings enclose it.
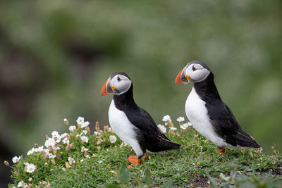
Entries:
{"label": "large cluster of white flowers left of both puffins", "polygon": [[[63,123],[68,126],[69,132],[59,134],[57,131],[51,132],[51,137],[46,135],[46,140],[43,146],[35,146],[27,151],[27,158],[23,160],[21,156],[13,157],[12,161],[17,167],[11,166],[15,170],[14,175],[19,176],[25,174],[30,178],[26,182],[25,180],[20,180],[20,178],[15,178],[17,187],[51,187],[49,182],[39,182],[38,185],[32,184],[32,178],[37,175],[37,171],[49,168],[52,172],[54,169],[51,168],[52,165],[56,163],[61,163],[64,165],[63,171],[72,168],[77,163],[84,163],[85,159],[91,158],[95,155],[95,152],[99,152],[101,149],[115,146],[115,144],[120,144],[120,148],[126,144],[121,142],[111,130],[109,125],[104,126],[103,130],[100,130],[99,122],[95,124],[95,130],[93,134],[90,131],[90,123],[85,121],[85,118],[78,117],[76,120],[77,125],[70,125],[68,120],[63,119]],[[81,149],[81,156],[73,156],[78,148]],[[40,159],[41,158],[41,159]],[[41,163],[43,161],[43,163]],[[101,161],[102,162],[102,161]],[[8,161],[5,164],[10,166]],[[43,168],[42,168],[42,165]],[[20,167],[20,168],[19,168]],[[89,167],[85,167],[89,168]],[[16,169],[22,169],[21,171],[16,171]],[[20,182],[18,182],[20,180]]]}

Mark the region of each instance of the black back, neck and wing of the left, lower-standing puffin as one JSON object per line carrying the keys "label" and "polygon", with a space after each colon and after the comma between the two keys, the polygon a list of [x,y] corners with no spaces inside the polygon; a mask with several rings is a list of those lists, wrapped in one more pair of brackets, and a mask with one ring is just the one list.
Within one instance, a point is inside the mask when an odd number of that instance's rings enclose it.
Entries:
{"label": "black back, neck and wing of the left, lower-standing puffin", "polygon": [[180,149],[180,144],[171,142],[159,130],[151,115],[135,104],[133,99],[133,84],[131,84],[128,92],[121,95],[114,95],[114,103],[116,108],[125,113],[130,123],[135,125],[137,140],[144,153],[146,149],[152,152]]}

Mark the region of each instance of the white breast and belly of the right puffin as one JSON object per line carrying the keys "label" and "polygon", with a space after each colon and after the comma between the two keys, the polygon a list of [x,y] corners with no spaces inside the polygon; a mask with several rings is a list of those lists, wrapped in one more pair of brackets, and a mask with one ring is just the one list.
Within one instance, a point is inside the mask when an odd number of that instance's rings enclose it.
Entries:
{"label": "white breast and belly of the right puffin", "polygon": [[186,100],[185,113],[197,132],[214,142],[216,146],[226,146],[226,142],[214,132],[212,123],[209,122],[207,108],[204,106],[205,104],[206,103],[200,99],[193,87]]}

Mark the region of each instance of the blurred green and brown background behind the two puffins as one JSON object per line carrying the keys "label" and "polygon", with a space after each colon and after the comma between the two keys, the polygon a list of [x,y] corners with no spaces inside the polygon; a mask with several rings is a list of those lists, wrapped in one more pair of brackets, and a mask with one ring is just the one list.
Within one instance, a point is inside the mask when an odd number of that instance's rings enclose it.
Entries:
{"label": "blurred green and brown background behind the two puffins", "polygon": [[279,0],[2,0],[1,160],[66,132],[63,118],[108,124],[112,96],[101,89],[116,71],[128,73],[136,103],[157,123],[185,116],[192,84],[174,80],[194,60],[209,65],[221,98],[264,151],[282,150],[281,9]]}

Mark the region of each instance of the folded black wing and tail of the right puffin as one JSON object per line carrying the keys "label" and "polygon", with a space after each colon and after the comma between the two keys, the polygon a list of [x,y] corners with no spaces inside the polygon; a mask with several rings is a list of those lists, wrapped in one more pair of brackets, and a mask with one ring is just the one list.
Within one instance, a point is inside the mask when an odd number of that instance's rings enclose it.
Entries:
{"label": "folded black wing and tail of the right puffin", "polygon": [[228,144],[233,146],[260,147],[252,137],[242,130],[231,109],[223,101],[206,104],[206,106],[215,132],[223,137]]}

